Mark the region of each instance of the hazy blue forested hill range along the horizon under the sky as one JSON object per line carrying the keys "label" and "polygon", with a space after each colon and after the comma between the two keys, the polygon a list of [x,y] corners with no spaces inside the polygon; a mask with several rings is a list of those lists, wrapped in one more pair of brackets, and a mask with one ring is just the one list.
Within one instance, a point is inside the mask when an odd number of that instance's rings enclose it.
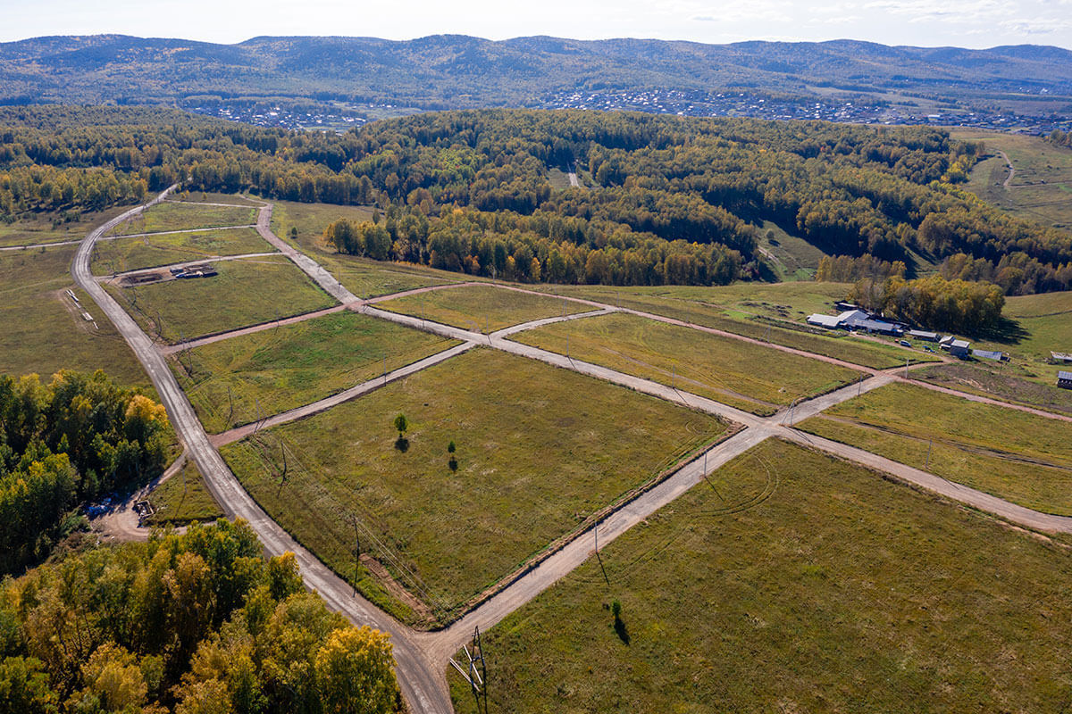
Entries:
{"label": "hazy blue forested hill range along the horizon under the sky", "polygon": [[[1072,52],[1023,45],[970,50],[873,43],[434,35],[255,37],[237,45],[124,35],[0,44],[0,102],[96,104],[191,96],[393,102],[422,108],[538,106],[566,89],[753,88],[814,95],[815,87],[896,91],[992,107],[1072,97]],[[1063,100],[1061,97],[1064,97]]]}

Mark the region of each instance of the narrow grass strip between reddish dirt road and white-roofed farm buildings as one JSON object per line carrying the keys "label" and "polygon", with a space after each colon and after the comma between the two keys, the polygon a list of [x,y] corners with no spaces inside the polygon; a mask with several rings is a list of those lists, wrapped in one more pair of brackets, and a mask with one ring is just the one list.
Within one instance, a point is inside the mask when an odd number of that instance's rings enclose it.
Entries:
{"label": "narrow grass strip between reddish dirt road and white-roofed farm buildings", "polygon": [[[798,286],[803,284],[793,283],[788,285]],[[714,288],[695,288],[695,290],[713,289]],[[686,300],[681,298],[647,295],[631,291],[621,291],[619,293],[613,289],[607,288],[599,290],[586,288],[584,290],[569,292],[578,294],[579,297],[598,300],[611,305],[630,307],[636,310],[675,318],[684,322],[691,322],[705,328],[714,328],[715,330],[731,332],[744,337],[770,341],[775,345],[781,345],[783,347],[791,347],[793,349],[834,358],[835,360],[844,360],[845,362],[851,362],[852,364],[859,364],[863,367],[870,367],[873,369],[887,369],[889,367],[904,365],[906,359],[911,363],[935,362],[938,360],[938,358],[928,356],[920,352],[903,350],[898,347],[894,347],[893,345],[879,340],[854,337],[844,333],[831,334],[827,331],[819,333],[803,323],[790,323],[789,326],[780,326],[783,324],[787,324],[781,319],[775,320],[774,318],[766,317],[765,315],[760,316],[759,318],[749,318],[738,307],[734,307],[731,310],[720,305],[703,302],[699,298],[696,300]],[[757,304],[762,302],[758,295],[756,297],[756,301]],[[768,304],[773,305],[775,310],[778,308],[778,305],[775,303]],[[832,308],[828,305],[820,312],[830,309]],[[801,310],[795,308],[790,310],[787,308],[785,312],[788,318],[793,312]],[[730,317],[730,315],[734,315],[734,317]]]}

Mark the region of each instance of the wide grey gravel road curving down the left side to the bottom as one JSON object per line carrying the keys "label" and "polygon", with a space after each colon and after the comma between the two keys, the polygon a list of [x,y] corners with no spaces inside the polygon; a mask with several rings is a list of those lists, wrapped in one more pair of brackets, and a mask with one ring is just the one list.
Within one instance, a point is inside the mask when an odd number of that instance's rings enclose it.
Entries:
{"label": "wide grey gravel road curving down the left side to the bottom", "polygon": [[267,552],[271,555],[294,552],[306,584],[316,590],[330,608],[342,612],[355,624],[368,625],[390,634],[399,685],[411,710],[428,714],[452,714],[453,708],[443,673],[429,663],[427,655],[414,641],[412,631],[364,598],[355,595],[349,584],[295,542],[245,492],[223,458],[209,443],[204,427],[168,369],[164,356],[157,351],[149,336],[93,279],[89,260],[96,240],[122,221],[160,202],[174,188],[175,186],[169,187],[149,203],[131,209],[93,230],[78,246],[71,265],[71,275],[78,287],[85,290],[107,315],[145,366],[167,409],[172,424],[223,511],[230,517],[244,518],[249,521]]}

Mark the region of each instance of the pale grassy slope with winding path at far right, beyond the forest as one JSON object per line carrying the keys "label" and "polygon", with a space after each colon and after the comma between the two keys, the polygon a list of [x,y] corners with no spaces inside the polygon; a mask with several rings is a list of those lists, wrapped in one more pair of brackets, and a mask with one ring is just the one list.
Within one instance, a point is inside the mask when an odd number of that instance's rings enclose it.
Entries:
{"label": "pale grassy slope with winding path at far right, beyond the forest", "polygon": [[1003,151],[1016,171],[1007,187],[1004,159],[987,158],[972,169],[969,191],[1021,218],[1072,228],[1072,151],[1022,134],[955,130],[953,136]]}

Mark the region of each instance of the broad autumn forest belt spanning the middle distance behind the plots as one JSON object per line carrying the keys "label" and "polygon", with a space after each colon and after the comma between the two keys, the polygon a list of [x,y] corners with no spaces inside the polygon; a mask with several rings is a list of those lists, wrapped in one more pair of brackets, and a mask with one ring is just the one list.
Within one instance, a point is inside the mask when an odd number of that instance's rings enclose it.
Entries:
{"label": "broad autumn forest belt spanning the middle distance behind the plots", "polygon": [[[0,110],[0,215],[100,208],[182,180],[205,191],[372,203],[346,253],[527,282],[758,278],[772,221],[833,255],[911,274],[912,254],[1010,294],[1072,286],[1072,234],[956,184],[982,152],[930,127],[587,111],[472,110],[289,133],[174,110]],[[584,187],[554,188],[579,167]],[[859,263],[863,265],[865,263]],[[873,263],[880,264],[880,263]],[[859,267],[858,265],[858,267]]]}

